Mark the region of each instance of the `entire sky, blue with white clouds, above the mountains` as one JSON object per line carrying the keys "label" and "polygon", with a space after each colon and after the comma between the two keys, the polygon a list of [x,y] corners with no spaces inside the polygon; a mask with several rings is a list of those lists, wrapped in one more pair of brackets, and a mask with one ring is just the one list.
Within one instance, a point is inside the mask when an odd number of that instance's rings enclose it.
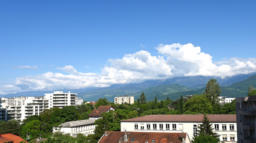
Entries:
{"label": "entire sky, blue with white clouds, above the mountains", "polygon": [[0,94],[256,72],[255,5],[0,1]]}

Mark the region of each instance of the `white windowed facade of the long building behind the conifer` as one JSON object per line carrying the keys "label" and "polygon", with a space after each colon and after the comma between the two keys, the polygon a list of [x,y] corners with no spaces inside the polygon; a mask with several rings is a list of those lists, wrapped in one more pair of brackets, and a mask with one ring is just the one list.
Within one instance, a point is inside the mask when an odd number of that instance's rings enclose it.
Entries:
{"label": "white windowed facade of the long building behind the conifer", "polygon": [[[143,116],[147,117],[147,116]],[[150,115],[148,115],[150,118]],[[161,116],[159,116],[161,118]],[[197,134],[199,124],[198,121],[143,121],[138,117],[138,121],[123,120],[121,122],[121,131],[138,131],[138,132],[186,132],[190,138],[193,139]],[[142,119],[142,120],[141,120]],[[227,143],[237,142],[237,129],[236,122],[212,122],[214,132],[219,135],[220,141]]]}

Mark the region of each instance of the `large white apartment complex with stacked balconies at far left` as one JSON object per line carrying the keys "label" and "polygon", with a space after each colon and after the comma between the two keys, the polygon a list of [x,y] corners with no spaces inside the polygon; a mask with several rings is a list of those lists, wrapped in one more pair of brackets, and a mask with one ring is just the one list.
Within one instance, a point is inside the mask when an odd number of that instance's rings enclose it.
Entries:
{"label": "large white apartment complex with stacked balconies at far left", "polygon": [[21,122],[28,116],[39,115],[44,109],[81,105],[83,99],[76,95],[70,91],[69,93],[55,91],[42,97],[2,97],[0,98],[0,120],[15,119]]}

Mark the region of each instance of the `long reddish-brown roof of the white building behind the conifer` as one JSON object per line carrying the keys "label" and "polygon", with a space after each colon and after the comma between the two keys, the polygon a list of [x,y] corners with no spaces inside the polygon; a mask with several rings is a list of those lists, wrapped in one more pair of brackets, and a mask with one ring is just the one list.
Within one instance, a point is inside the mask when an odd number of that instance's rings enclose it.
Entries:
{"label": "long reddish-brown roof of the white building behind the conifer", "polygon": [[[120,122],[202,122],[204,115],[147,115]],[[236,114],[207,115],[211,122],[237,122]]]}

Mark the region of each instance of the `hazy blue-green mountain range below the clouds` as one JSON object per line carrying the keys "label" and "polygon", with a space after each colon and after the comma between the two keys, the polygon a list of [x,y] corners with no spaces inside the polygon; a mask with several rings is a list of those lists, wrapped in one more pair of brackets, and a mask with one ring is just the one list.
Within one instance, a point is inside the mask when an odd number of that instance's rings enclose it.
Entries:
{"label": "hazy blue-green mountain range below the clouds", "polygon": [[[162,80],[146,80],[142,83],[129,84],[113,84],[107,88],[87,88],[87,89],[58,89],[54,91],[63,91],[77,93],[84,101],[96,101],[99,98],[106,97],[109,101],[114,101],[115,96],[130,95],[134,96],[134,100],[139,98],[141,92],[145,93],[147,100],[154,100],[157,96],[158,100],[165,100],[169,97],[175,100],[180,95],[201,94],[205,90],[205,85],[209,79],[217,79],[221,85],[221,96],[242,97],[246,96],[248,86],[256,87],[256,73],[242,74],[233,77],[179,77]],[[1,97],[14,96],[44,96],[44,93],[53,93],[53,91],[29,91],[15,94],[6,94]]]}

